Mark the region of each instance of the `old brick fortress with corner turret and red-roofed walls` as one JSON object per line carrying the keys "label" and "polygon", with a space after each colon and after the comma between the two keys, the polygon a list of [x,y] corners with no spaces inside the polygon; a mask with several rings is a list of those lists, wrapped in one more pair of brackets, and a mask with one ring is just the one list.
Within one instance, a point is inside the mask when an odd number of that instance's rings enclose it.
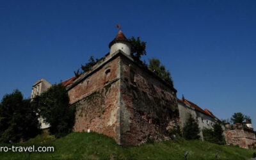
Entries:
{"label": "old brick fortress with corner turret and red-roofed walls", "polygon": [[[208,109],[184,97],[178,99],[170,83],[136,63],[121,30],[109,49],[90,71],[62,82],[70,104],[77,104],[74,131],[90,129],[114,138],[120,145],[139,145],[148,138],[168,136],[169,129],[183,126],[188,114],[198,120],[200,129],[212,128],[220,121]],[[50,86],[45,79],[36,81],[31,99]],[[49,127],[42,118],[40,122],[42,129]]]}

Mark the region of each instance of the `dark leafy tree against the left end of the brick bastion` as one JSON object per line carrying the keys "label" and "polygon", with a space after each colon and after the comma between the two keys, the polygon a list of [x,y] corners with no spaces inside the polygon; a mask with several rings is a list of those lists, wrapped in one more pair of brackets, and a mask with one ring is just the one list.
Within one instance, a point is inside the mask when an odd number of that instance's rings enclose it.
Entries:
{"label": "dark leafy tree against the left end of the brick bastion", "polygon": [[51,134],[61,137],[72,132],[76,108],[69,105],[65,86],[52,85],[47,92],[33,99],[33,105],[38,106],[44,122],[51,125],[49,129]]}

